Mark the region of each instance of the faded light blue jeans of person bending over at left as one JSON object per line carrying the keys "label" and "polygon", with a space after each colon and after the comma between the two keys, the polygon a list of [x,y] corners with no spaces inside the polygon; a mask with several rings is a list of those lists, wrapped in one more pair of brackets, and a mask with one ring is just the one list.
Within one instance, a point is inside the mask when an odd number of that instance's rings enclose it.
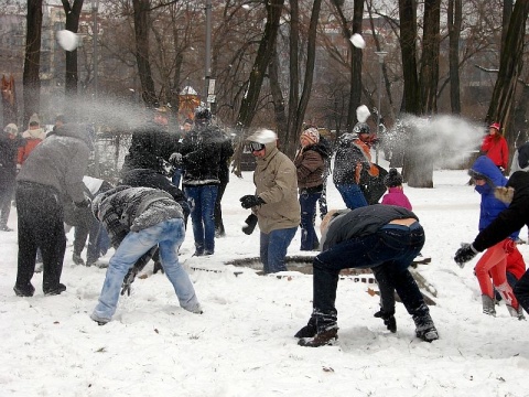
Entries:
{"label": "faded light blue jeans of person bending over at left", "polygon": [[195,289],[187,272],[179,262],[179,247],[184,236],[184,221],[181,218],[163,221],[138,233],[129,232],[110,258],[99,303],[94,309],[94,316],[110,321],[116,312],[125,275],[156,244],[165,276],[173,285],[180,305],[185,310],[196,311],[199,303]]}

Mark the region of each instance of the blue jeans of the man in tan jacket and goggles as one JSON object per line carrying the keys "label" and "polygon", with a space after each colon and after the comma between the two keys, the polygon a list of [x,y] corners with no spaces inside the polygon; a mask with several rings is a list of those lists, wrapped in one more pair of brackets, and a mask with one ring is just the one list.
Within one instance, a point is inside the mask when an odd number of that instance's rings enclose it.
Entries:
{"label": "blue jeans of the man in tan jacket and goggles", "polygon": [[264,275],[287,271],[284,258],[296,229],[298,227],[290,227],[272,230],[269,234],[261,232],[260,257]]}

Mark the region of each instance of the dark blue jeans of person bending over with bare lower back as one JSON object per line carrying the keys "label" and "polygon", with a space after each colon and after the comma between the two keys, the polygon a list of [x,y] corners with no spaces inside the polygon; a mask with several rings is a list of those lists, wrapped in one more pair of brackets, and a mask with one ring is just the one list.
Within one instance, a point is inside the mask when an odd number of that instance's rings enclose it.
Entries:
{"label": "dark blue jeans of person bending over with bare lower back", "polygon": [[346,268],[385,269],[389,283],[386,287],[397,290],[409,312],[419,309],[424,300],[408,267],[423,245],[424,230],[419,223],[412,227],[387,225],[377,233],[339,243],[317,255],[313,261],[313,308],[321,319],[316,323],[325,328],[336,321],[338,273]]}

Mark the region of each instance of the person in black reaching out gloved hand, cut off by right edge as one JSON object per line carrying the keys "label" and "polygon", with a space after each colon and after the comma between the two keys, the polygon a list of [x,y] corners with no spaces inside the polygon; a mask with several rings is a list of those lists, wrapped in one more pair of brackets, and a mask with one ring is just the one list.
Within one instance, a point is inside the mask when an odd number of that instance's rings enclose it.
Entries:
{"label": "person in black reaching out gloved hand, cut off by right edge", "polygon": [[[529,226],[529,173],[515,172],[505,187],[496,187],[495,195],[509,206],[479,232],[474,243],[457,249],[454,260],[462,268],[478,253],[498,244],[523,225]],[[514,292],[518,303],[529,312],[529,271],[518,280]]]}

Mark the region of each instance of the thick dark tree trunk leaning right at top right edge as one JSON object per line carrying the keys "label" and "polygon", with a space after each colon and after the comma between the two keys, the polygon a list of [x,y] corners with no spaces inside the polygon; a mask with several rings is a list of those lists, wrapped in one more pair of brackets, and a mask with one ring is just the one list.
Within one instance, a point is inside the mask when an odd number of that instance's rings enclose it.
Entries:
{"label": "thick dark tree trunk leaning right at top right edge", "polygon": [[[516,84],[523,65],[523,36],[528,12],[529,0],[516,2],[500,55],[498,78],[485,118],[487,124],[498,121],[505,127],[509,125]],[[504,133],[508,136],[509,130],[505,128]]]}

